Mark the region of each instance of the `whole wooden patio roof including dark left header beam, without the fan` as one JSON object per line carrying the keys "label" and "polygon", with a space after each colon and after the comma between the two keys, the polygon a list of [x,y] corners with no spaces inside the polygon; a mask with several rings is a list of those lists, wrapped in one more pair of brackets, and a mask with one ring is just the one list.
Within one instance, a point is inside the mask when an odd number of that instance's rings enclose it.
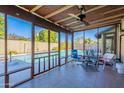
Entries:
{"label": "whole wooden patio roof including dark left header beam, without the fan", "polygon": [[124,16],[123,5],[84,5],[90,25],[69,16],[78,15],[77,5],[16,5],[0,6],[0,11],[25,19],[54,31],[75,32],[120,23]]}

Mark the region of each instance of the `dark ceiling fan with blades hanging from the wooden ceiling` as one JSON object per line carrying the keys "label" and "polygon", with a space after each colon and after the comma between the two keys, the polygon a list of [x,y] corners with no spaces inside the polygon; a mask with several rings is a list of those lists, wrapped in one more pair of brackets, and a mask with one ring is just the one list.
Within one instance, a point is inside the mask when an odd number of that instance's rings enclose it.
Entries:
{"label": "dark ceiling fan with blades hanging from the wooden ceiling", "polygon": [[87,21],[84,20],[84,18],[86,18],[86,14],[85,14],[85,7],[83,5],[78,5],[78,8],[80,9],[80,14],[79,15],[75,15],[75,14],[68,14],[69,16],[76,18],[77,20],[83,22],[85,25],[89,25],[89,23]]}

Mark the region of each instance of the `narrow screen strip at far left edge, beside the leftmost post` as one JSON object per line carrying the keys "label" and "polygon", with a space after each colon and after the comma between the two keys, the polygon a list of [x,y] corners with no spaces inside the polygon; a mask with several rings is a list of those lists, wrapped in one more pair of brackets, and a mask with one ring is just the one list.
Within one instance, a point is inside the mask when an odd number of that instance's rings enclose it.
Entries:
{"label": "narrow screen strip at far left edge, beside the leftmost post", "polygon": [[0,87],[4,87],[5,66],[5,14],[0,13]]}

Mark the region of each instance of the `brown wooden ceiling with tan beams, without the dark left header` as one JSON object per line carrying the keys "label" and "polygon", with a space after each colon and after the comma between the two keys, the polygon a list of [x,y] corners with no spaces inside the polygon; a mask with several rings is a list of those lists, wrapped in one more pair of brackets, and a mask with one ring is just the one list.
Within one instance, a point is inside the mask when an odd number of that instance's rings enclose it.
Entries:
{"label": "brown wooden ceiling with tan beams, without the dark left header", "polygon": [[86,26],[68,15],[69,13],[79,15],[80,10],[77,5],[18,5],[17,7],[70,31],[116,24],[124,16],[123,5],[84,5],[86,9],[84,20],[90,23]]}

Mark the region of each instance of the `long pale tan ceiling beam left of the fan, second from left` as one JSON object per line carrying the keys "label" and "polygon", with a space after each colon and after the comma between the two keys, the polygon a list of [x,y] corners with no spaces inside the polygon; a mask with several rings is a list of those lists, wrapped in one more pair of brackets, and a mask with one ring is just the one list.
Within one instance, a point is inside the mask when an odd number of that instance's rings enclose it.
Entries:
{"label": "long pale tan ceiling beam left of the fan, second from left", "polygon": [[67,10],[67,9],[73,7],[73,6],[74,6],[74,5],[64,6],[64,7],[60,8],[60,9],[57,9],[56,11],[54,11],[54,12],[52,12],[52,13],[50,13],[50,14],[44,16],[44,17],[45,17],[45,18],[50,18],[50,17],[52,17],[52,16],[54,16],[54,15],[57,15],[57,14],[59,14],[59,13],[65,11],[65,10]]}

